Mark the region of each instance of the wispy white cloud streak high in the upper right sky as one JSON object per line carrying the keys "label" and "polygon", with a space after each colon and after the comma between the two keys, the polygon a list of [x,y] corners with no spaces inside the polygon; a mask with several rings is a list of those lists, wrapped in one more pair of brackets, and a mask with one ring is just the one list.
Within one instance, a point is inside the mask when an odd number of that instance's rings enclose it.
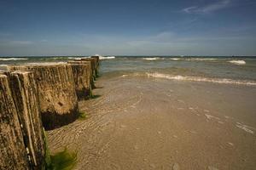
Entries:
{"label": "wispy white cloud streak high in the upper right sky", "polygon": [[192,7],[188,7],[188,8],[183,8],[183,12],[187,13],[187,14],[209,14],[212,13],[214,11],[223,9],[223,8],[228,8],[231,5],[231,1],[230,0],[221,0],[218,1],[217,3],[210,3],[208,5],[205,6],[192,6]]}

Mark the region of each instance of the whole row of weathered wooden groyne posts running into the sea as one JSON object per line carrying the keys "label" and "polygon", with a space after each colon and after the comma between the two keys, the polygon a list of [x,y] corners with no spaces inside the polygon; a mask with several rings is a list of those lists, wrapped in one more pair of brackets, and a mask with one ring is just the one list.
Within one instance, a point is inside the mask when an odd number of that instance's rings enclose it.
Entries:
{"label": "whole row of weathered wooden groyne posts running into the sea", "polygon": [[45,129],[75,121],[99,59],[9,65],[0,72],[0,169],[44,169]]}

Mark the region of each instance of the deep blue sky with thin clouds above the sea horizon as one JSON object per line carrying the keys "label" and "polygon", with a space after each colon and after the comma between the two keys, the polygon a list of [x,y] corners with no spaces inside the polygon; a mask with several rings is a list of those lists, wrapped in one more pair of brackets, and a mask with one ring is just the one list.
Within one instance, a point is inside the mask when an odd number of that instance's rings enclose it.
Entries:
{"label": "deep blue sky with thin clouds above the sea horizon", "polygon": [[256,0],[0,1],[0,56],[256,55]]}

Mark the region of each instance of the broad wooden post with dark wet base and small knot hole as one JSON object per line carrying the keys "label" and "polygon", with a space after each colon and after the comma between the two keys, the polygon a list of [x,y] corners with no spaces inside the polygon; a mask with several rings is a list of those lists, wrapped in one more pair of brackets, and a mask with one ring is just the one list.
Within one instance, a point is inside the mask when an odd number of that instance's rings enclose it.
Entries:
{"label": "broad wooden post with dark wet base and small knot hole", "polygon": [[40,113],[46,130],[66,125],[79,116],[71,65],[22,65],[9,66],[8,69],[33,71]]}

